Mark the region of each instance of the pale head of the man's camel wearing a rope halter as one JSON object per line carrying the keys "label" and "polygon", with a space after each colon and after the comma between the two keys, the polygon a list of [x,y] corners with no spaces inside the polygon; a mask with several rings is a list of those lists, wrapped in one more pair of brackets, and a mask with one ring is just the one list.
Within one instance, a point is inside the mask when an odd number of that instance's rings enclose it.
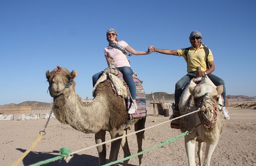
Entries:
{"label": "pale head of the man's camel wearing a rope halter", "polygon": [[194,105],[201,111],[198,112],[201,123],[207,128],[214,126],[218,113],[218,100],[223,92],[223,86],[212,86],[211,84],[198,84],[190,87],[190,93],[194,99]]}

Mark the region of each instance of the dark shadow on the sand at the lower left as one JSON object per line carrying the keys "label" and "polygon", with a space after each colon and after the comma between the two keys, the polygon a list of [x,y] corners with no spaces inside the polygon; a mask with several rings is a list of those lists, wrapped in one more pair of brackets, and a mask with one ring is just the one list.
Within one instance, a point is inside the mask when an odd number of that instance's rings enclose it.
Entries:
{"label": "dark shadow on the sand at the lower left", "polygon": [[[16,148],[17,150],[21,151],[21,152],[25,152],[25,149],[21,149],[21,148]],[[51,153],[56,153],[56,154],[51,154]],[[59,151],[54,150],[52,152],[35,152],[35,151],[30,151],[27,156],[23,159],[23,164],[25,166],[27,165],[31,165],[31,164],[35,164],[37,162],[40,161],[44,161],[50,158],[54,158],[59,156]],[[106,162],[108,163],[108,159],[106,160]],[[123,163],[118,163],[118,164],[123,164]],[[66,161],[62,158],[60,160],[54,161],[54,162],[50,162],[48,164],[44,164],[44,166],[79,166],[79,165],[83,165],[83,166],[98,166],[99,165],[99,160],[98,157],[95,156],[91,156],[91,155],[87,155],[87,154],[74,154],[73,158],[66,163]],[[135,166],[132,164],[128,164],[128,166]]]}

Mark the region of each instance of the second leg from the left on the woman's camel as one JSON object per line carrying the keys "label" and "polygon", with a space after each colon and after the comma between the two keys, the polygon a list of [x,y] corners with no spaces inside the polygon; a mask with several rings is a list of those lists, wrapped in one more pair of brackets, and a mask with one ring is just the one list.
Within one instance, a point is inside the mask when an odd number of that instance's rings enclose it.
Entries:
{"label": "second leg from the left on the woman's camel", "polygon": [[[122,136],[123,130],[112,130],[109,131],[111,139]],[[122,139],[118,139],[111,142],[111,149],[110,149],[110,155],[109,155],[109,162],[116,161],[118,157],[118,152],[120,149]],[[116,165],[116,164],[114,164]]]}

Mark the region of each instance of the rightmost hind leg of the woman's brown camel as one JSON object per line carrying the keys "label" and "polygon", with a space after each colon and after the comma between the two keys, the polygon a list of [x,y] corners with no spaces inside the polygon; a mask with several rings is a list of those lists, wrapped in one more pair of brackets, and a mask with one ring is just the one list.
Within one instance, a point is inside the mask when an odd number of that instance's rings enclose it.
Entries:
{"label": "rightmost hind leg of the woman's brown camel", "polygon": [[[140,119],[136,124],[134,124],[134,130],[138,131],[145,128],[145,122],[146,122],[146,118]],[[139,153],[142,151],[142,140],[144,138],[144,131],[136,133],[136,136],[137,136],[138,153]],[[143,157],[143,154],[138,155],[139,166],[142,166],[142,157]]]}

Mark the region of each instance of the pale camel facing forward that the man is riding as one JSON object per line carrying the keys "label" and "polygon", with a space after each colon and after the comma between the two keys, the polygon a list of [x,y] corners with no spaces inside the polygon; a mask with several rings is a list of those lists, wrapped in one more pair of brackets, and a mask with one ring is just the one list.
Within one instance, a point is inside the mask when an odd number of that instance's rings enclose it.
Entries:
{"label": "pale camel facing forward that the man is riding", "polygon": [[205,142],[206,150],[203,165],[210,165],[211,155],[223,129],[223,115],[220,111],[221,107],[218,106],[222,91],[222,85],[216,87],[205,76],[197,86],[191,80],[183,92],[181,102],[179,103],[180,112],[187,114],[200,109],[200,112],[191,114],[180,120],[182,132],[191,131],[192,128],[201,124],[195,127],[189,135],[185,136],[185,147],[190,166],[195,165],[195,141],[198,141],[197,156],[199,158],[199,164],[202,165],[202,146],[203,142]]}

